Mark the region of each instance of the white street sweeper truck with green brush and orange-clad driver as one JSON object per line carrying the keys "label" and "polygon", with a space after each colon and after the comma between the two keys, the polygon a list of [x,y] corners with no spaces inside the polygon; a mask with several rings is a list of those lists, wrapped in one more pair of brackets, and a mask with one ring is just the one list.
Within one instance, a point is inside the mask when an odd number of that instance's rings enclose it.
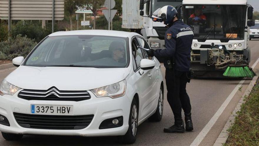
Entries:
{"label": "white street sweeper truck with green brush and orange-clad driver", "polygon": [[254,76],[248,42],[255,22],[247,0],[183,0],[180,9],[194,32],[190,60],[195,76]]}

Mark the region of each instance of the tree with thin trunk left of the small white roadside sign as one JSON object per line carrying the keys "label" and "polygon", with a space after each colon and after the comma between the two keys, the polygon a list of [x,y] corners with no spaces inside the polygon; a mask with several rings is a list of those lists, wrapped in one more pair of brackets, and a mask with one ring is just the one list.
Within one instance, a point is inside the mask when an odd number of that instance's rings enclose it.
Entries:
{"label": "tree with thin trunk left of the small white roadside sign", "polygon": [[72,16],[79,7],[84,5],[83,0],[65,0],[65,11],[69,13],[70,30],[72,30]]}

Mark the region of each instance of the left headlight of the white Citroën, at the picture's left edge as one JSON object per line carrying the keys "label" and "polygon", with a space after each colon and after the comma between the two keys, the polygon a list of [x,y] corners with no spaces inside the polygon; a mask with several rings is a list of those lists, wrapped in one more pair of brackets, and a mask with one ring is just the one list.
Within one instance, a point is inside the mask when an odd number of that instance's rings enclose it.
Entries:
{"label": "left headlight of the white Citro\u00ebn, at the picture's left edge", "polygon": [[21,88],[14,86],[14,85],[10,84],[9,82],[7,82],[6,80],[4,80],[0,85],[0,95],[2,95],[2,96],[4,94],[14,95],[14,93],[16,93],[20,89]]}

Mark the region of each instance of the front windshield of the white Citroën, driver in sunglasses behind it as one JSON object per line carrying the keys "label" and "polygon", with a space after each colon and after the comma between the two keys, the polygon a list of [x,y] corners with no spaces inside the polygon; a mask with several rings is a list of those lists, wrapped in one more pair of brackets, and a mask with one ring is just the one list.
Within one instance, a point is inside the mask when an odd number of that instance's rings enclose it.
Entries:
{"label": "front windshield of the white Citro\u00ebn, driver in sunglasses behind it", "polygon": [[26,59],[26,66],[125,68],[127,38],[70,35],[47,37]]}

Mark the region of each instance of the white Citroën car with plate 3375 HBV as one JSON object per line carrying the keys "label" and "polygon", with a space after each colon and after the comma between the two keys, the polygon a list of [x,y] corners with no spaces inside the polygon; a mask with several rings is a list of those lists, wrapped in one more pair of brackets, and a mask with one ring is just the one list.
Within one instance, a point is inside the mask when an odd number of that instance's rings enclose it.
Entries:
{"label": "white Citro\u00ebn car with plate 3375 HBV", "polygon": [[136,140],[137,126],[163,114],[160,63],[140,48],[137,33],[108,30],[55,32],[0,87],[0,131],[23,134],[119,136]]}

